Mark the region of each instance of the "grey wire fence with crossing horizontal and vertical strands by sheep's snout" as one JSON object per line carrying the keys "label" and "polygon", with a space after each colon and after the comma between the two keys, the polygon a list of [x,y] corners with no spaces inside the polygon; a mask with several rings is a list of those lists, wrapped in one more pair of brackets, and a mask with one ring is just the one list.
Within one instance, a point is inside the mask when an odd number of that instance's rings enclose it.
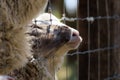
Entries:
{"label": "grey wire fence with crossing horizontal and vertical strands by sheep's snout", "polygon": [[[49,0],[50,1],[50,0]],[[82,0],[83,1],[83,0]],[[114,53],[111,53],[110,52],[110,50],[115,50],[115,49],[120,49],[120,45],[119,44],[113,44],[112,46],[111,46],[111,32],[110,32],[110,30],[111,30],[111,25],[110,25],[110,20],[114,20],[114,21],[119,21],[120,20],[120,15],[118,14],[114,14],[114,15],[112,15],[112,16],[110,16],[110,13],[109,13],[109,1],[108,0],[104,0],[104,5],[105,5],[105,14],[106,14],[106,16],[100,16],[100,0],[95,0],[96,1],[96,12],[97,12],[97,16],[91,16],[90,15],[90,12],[91,12],[91,10],[90,10],[90,2],[91,2],[91,0],[87,0],[86,1],[86,13],[87,13],[87,16],[86,17],[79,17],[79,7],[78,7],[78,9],[77,9],[77,12],[76,12],[76,17],[67,17],[67,16],[65,16],[66,15],[66,9],[65,9],[65,5],[63,5],[63,17],[60,19],[60,21],[63,21],[64,23],[65,22],[76,22],[76,25],[77,25],[77,30],[79,30],[79,26],[80,26],[80,24],[79,24],[79,21],[81,22],[85,22],[85,23],[87,23],[87,50],[85,50],[85,51],[80,51],[79,49],[76,51],[76,52],[73,52],[73,53],[68,53],[68,54],[66,54],[66,56],[77,56],[77,80],[81,80],[81,77],[79,77],[79,75],[80,74],[82,74],[82,73],[80,73],[79,72],[79,68],[80,68],[80,59],[79,59],[79,56],[80,55],[88,55],[88,61],[87,61],[87,79],[85,79],[85,80],[92,80],[92,78],[91,78],[91,68],[92,68],[92,64],[91,64],[91,61],[92,61],[92,59],[91,59],[91,55],[92,54],[98,54],[98,56],[97,56],[97,60],[98,60],[98,66],[97,66],[97,68],[98,68],[98,70],[97,70],[97,73],[96,74],[98,74],[97,76],[97,79],[95,79],[95,80],[103,80],[103,78],[101,79],[101,75],[102,75],[102,72],[101,72],[101,66],[104,66],[104,65],[102,65],[101,64],[101,60],[102,60],[102,57],[101,57],[101,54],[106,54],[107,55],[107,77],[104,77],[104,80],[113,80],[113,79],[120,79],[120,74],[119,74],[119,72],[117,73],[117,71],[114,71],[114,73],[112,73],[111,74],[111,72],[110,72],[110,69],[112,68],[111,67],[111,57],[110,57],[110,55],[111,54],[114,54]],[[77,2],[78,2],[78,6],[79,6],[79,0],[77,0]],[[50,5],[52,5],[52,3],[50,2]],[[49,8],[50,8],[51,6],[49,6]],[[50,13],[52,13],[51,12],[51,10],[50,10]],[[101,28],[101,25],[100,25],[100,20],[106,20],[106,26],[105,27],[107,27],[107,32],[106,32],[106,34],[107,34],[107,42],[106,42],[106,47],[101,47],[100,46],[100,44],[102,44],[102,42],[101,42],[101,33],[100,33],[100,28]],[[94,24],[94,22],[95,21],[97,21],[97,48],[94,48],[94,49],[91,49],[91,24]],[[35,21],[36,22],[36,21]],[[37,22],[43,22],[43,21],[37,21]],[[47,23],[47,21],[46,22],[43,22],[43,23],[45,23],[45,24],[48,24]],[[68,24],[69,25],[69,24]],[[113,26],[113,27],[116,27],[116,26]],[[119,33],[118,33],[119,34]],[[93,44],[94,45],[94,44]],[[102,51],[107,51],[107,53],[102,53]],[[114,64],[114,63],[113,63]],[[119,64],[119,63],[118,63]],[[67,69],[67,67],[66,67],[66,80],[69,80],[67,77],[67,75],[69,74],[69,70]],[[105,75],[106,76],[106,75]]]}

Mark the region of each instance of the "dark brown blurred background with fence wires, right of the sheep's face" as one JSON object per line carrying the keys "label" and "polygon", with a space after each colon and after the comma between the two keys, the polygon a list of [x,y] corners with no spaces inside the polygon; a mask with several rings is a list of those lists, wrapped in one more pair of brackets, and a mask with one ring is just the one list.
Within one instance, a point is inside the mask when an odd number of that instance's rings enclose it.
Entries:
{"label": "dark brown blurred background with fence wires, right of the sheep's face", "polygon": [[63,22],[83,38],[66,56],[59,80],[120,80],[119,5],[120,0],[50,0],[52,14],[69,18]]}

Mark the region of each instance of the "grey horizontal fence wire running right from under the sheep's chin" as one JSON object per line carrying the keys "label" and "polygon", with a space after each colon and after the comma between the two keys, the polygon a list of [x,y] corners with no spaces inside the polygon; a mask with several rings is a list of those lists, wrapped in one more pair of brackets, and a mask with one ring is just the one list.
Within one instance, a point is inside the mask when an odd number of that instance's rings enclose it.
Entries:
{"label": "grey horizontal fence wire running right from under the sheep's chin", "polygon": [[93,50],[89,50],[89,51],[83,51],[83,52],[75,52],[75,53],[68,53],[67,55],[68,56],[73,56],[73,55],[77,55],[77,54],[91,54],[91,53],[94,53],[94,52],[98,52],[98,51],[105,51],[105,50],[110,50],[110,49],[116,49],[116,48],[120,48],[120,45],[115,45],[115,46],[112,46],[112,47],[105,47],[105,48],[99,48],[99,49],[93,49]]}

